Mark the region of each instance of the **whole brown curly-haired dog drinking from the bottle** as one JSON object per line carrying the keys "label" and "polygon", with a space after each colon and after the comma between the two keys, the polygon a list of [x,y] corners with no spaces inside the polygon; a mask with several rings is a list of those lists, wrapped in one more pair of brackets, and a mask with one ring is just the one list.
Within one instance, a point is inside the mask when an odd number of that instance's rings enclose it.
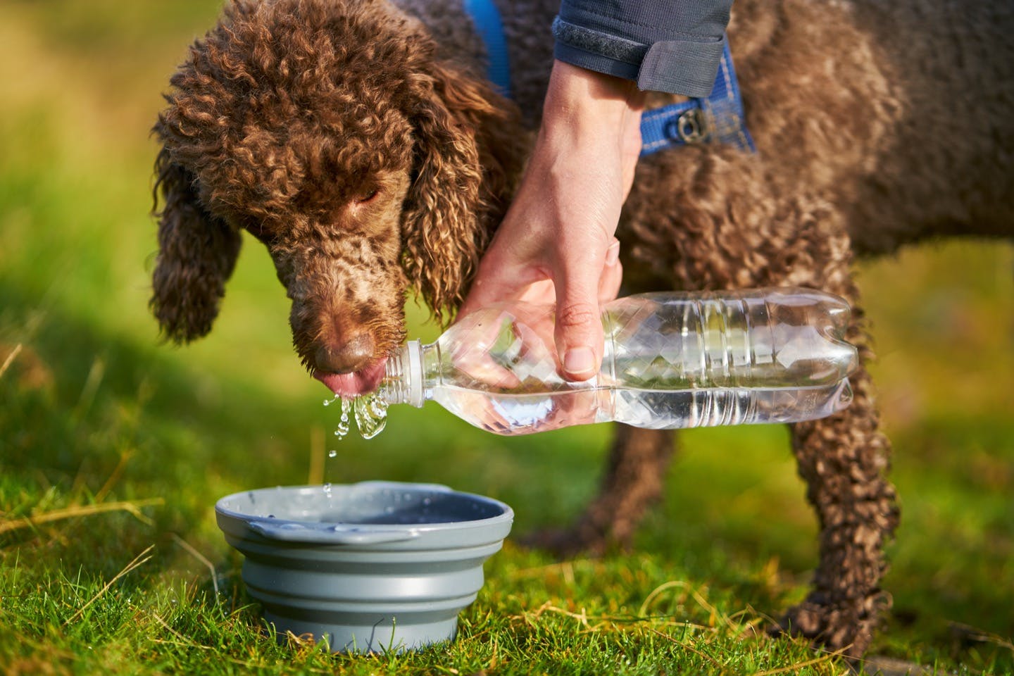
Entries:
{"label": "whole brown curly-haired dog drinking from the bottle", "polygon": [[[172,77],[155,133],[165,335],[207,333],[239,251],[267,245],[303,364],[374,387],[410,287],[449,316],[537,125],[557,0],[499,0],[513,101],[487,83],[459,0],[237,0]],[[855,306],[851,264],[937,235],[1014,226],[1014,5],[738,0],[729,26],[756,154],[642,160],[619,236],[631,291],[799,285]],[[654,96],[655,102],[672,100]],[[865,370],[851,407],[792,430],[820,525],[813,589],[781,627],[861,655],[897,522]],[[621,428],[569,544],[628,540],[673,434]]]}

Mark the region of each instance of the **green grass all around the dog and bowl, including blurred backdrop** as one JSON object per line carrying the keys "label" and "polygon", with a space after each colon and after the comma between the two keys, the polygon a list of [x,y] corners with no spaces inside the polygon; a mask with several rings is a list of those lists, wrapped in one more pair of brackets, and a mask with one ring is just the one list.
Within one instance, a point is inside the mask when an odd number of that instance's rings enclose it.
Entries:
{"label": "green grass all around the dog and bowl, including blurred backdrop", "polygon": [[[217,498],[318,480],[337,448],[332,480],[494,496],[521,535],[580,511],[607,429],[503,439],[430,404],[332,441],[338,414],[252,241],[212,335],[159,345],[148,129],[217,2],[0,7],[0,365],[17,350],[0,374],[0,672],[846,671],[763,634],[805,594],[816,532],[786,433],[764,427],[682,435],[633,553],[558,561],[509,540],[450,645],[350,658],[267,639]],[[871,654],[1011,673],[1014,250],[925,247],[860,272],[903,510]]]}

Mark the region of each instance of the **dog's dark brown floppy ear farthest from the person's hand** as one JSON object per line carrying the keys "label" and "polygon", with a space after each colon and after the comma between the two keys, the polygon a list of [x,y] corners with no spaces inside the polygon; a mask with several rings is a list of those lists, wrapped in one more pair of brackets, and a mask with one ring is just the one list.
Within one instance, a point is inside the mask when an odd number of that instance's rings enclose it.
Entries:
{"label": "dog's dark brown floppy ear farthest from the person's hand", "polygon": [[155,172],[158,257],[149,305],[166,339],[189,343],[211,330],[242,240],[235,229],[204,209],[194,175],[173,163],[168,151],[159,153]]}

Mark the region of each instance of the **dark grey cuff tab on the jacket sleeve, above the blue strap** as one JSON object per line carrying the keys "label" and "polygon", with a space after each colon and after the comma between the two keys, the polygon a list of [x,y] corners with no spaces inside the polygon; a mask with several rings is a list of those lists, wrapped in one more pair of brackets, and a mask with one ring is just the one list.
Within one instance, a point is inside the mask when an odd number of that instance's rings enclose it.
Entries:
{"label": "dark grey cuff tab on the jacket sleeve, above the blue strap", "polygon": [[669,41],[648,48],[637,86],[642,91],[667,91],[695,98],[711,94],[725,36],[713,43]]}

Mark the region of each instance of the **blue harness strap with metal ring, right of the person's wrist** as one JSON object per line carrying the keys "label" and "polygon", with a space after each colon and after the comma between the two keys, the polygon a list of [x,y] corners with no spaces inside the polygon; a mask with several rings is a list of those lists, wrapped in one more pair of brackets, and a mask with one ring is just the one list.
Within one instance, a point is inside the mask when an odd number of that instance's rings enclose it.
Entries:
{"label": "blue harness strap with metal ring, right of the person's wrist", "polygon": [[739,82],[726,41],[715,86],[707,98],[691,98],[641,116],[641,156],[699,143],[727,143],[756,152],[743,120]]}

